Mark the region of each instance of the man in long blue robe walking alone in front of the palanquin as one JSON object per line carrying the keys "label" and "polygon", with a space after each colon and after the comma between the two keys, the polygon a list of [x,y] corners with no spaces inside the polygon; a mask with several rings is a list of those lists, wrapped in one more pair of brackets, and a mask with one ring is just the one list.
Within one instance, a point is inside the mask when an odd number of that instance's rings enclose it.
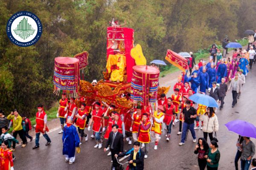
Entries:
{"label": "man in long blue robe walking alone in front of the palanquin", "polygon": [[73,164],[75,161],[75,152],[80,152],[79,147],[79,135],[76,131],[76,127],[73,125],[71,116],[67,117],[67,125],[63,129],[63,150],[62,154],[65,156],[65,161],[69,161],[69,164]]}

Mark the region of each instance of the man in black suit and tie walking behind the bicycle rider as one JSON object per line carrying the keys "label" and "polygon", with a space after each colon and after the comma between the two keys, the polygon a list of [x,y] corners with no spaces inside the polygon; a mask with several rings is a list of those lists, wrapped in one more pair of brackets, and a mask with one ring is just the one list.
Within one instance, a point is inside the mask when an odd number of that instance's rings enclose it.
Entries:
{"label": "man in black suit and tie walking behind the bicycle rider", "polygon": [[110,146],[111,158],[113,161],[112,170],[117,170],[119,164],[116,161],[115,154],[123,152],[124,137],[121,133],[118,132],[118,125],[116,124],[112,126],[112,132],[109,134],[104,152],[106,152],[108,146]]}

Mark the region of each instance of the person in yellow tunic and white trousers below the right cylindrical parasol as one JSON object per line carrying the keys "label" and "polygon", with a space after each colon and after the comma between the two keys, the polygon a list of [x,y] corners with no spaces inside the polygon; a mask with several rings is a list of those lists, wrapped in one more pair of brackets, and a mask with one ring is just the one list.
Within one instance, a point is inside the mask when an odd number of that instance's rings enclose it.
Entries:
{"label": "person in yellow tunic and white trousers below the right cylindrical parasol", "polygon": [[152,136],[155,138],[155,146],[154,150],[157,150],[157,145],[160,139],[160,135],[162,134],[162,123],[163,123],[163,106],[158,106],[157,111],[154,111],[154,114],[152,114],[152,118],[154,121],[154,124],[151,128]]}

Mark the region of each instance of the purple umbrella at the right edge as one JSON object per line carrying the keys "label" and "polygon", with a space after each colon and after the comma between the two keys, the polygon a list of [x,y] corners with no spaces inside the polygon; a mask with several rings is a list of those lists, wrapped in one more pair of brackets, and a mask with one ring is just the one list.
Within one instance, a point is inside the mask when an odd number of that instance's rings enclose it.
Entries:
{"label": "purple umbrella at the right edge", "polygon": [[225,124],[227,129],[241,136],[256,138],[256,127],[242,120],[234,120]]}

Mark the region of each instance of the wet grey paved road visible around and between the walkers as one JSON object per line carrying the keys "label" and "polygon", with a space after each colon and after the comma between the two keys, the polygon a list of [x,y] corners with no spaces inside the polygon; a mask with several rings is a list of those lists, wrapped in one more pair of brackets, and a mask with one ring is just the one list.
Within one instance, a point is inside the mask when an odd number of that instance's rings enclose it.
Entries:
{"label": "wet grey paved road visible around and between the walkers", "polygon": [[[238,135],[231,133],[224,126],[225,123],[242,119],[256,125],[256,65],[250,71],[246,78],[246,84],[243,86],[241,98],[235,108],[231,108],[232,94],[229,92],[225,98],[225,104],[222,111],[217,112],[219,120],[219,131],[217,138],[219,140],[219,150],[221,152],[220,170],[233,170],[233,159],[236,154],[236,140]],[[175,81],[169,80],[161,85],[171,85]],[[172,90],[167,96],[170,96]],[[76,162],[69,165],[62,156],[62,135],[58,130],[49,133],[52,144],[44,146],[45,139],[41,137],[40,148],[32,150],[35,140],[29,142],[25,148],[17,147],[15,151],[15,169],[16,170],[109,170],[111,166],[111,157],[103,149],[94,149],[95,141],[89,139],[81,145],[81,153],[76,154]],[[181,136],[177,136],[178,125],[172,128],[170,142],[166,142],[162,135],[158,150],[154,150],[154,143],[151,142],[148,159],[145,159],[145,170],[198,170],[197,156],[193,153],[195,143],[192,142],[192,136],[189,133],[188,139],[183,146],[179,146]],[[91,135],[92,131],[89,132]],[[165,131],[164,131],[165,135]],[[196,130],[197,137],[203,137],[201,130]],[[256,143],[255,139],[252,139]],[[209,139],[208,139],[209,142]],[[104,142],[105,144],[105,142]],[[130,148],[125,144],[125,149]]]}

